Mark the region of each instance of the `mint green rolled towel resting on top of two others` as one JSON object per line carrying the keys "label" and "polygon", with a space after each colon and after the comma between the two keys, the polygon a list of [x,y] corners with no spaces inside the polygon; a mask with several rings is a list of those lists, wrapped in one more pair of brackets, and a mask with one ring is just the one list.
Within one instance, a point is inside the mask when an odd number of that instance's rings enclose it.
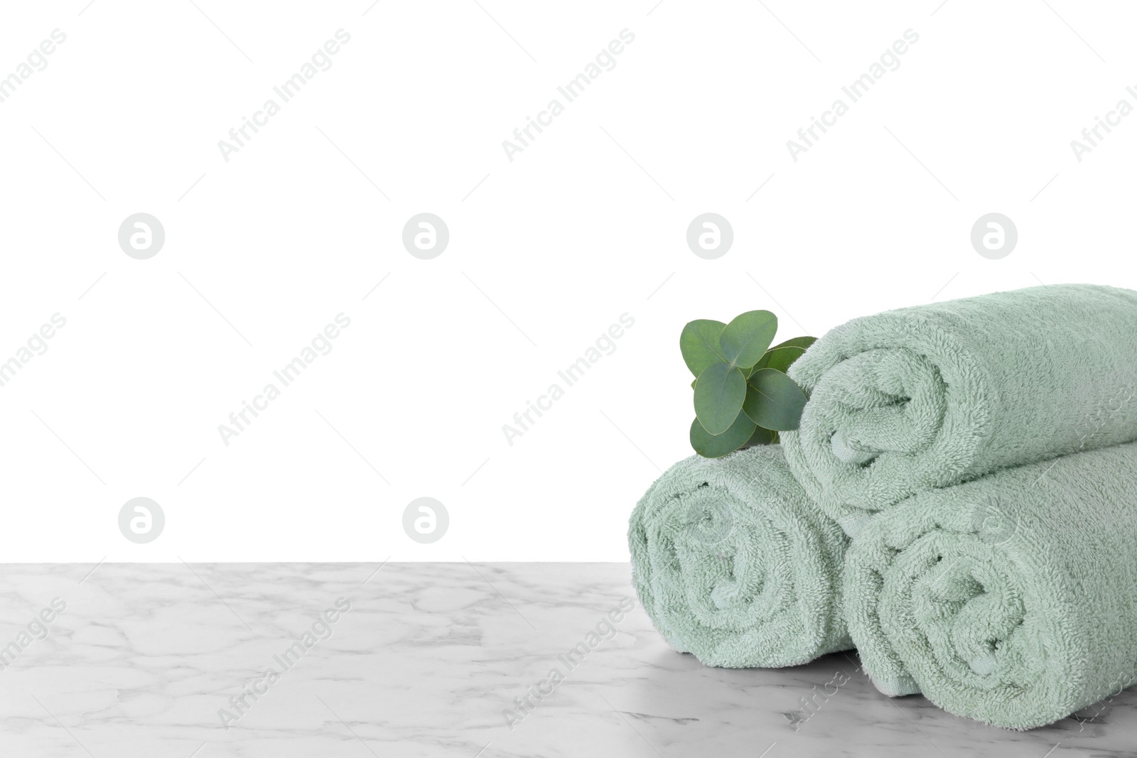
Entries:
{"label": "mint green rolled towel resting on top of two others", "polygon": [[789,369],[794,475],[850,535],[905,498],[1137,440],[1137,292],[1055,284],[855,318]]}

